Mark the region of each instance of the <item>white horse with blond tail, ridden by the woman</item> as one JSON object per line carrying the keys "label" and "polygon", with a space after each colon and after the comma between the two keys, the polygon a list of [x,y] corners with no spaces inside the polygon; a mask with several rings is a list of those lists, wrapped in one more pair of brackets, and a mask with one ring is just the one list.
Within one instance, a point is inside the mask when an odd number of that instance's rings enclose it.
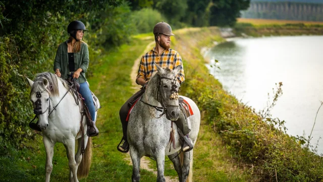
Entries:
{"label": "white horse with blond tail, ridden by the woman", "polygon": [[[86,135],[86,117],[80,113],[80,107],[75,100],[77,97],[70,92],[65,80],[49,72],[37,74],[34,81],[27,78],[27,81],[31,86],[30,100],[38,116],[38,126],[41,128],[46,150],[46,181],[50,179],[53,148],[57,142],[63,143],[66,148],[70,181],[77,182],[78,177],[87,177],[92,160],[92,141]],[[85,148],[83,155],[82,133]],[[75,155],[76,139],[79,146]]]}

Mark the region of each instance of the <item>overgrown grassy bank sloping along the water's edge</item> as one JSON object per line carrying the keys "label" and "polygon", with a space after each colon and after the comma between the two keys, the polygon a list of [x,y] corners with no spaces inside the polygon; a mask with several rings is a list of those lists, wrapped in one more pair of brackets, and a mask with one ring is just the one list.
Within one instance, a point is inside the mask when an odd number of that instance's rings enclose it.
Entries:
{"label": "overgrown grassy bank sloping along the water's edge", "polygon": [[[187,76],[186,84],[182,85],[182,94],[184,92],[198,103],[204,119],[221,135],[232,157],[247,168],[256,180],[321,180],[321,157],[305,148],[300,140],[287,135],[282,121],[271,118],[270,115],[254,113],[252,108],[226,93],[219,81],[209,75],[203,58],[196,56],[203,46],[192,44],[194,41],[190,37],[200,42],[206,41],[202,44],[206,45],[207,42],[212,44],[214,41],[209,37],[217,35],[219,29],[214,28],[176,36],[176,48],[192,55],[184,57],[186,65],[189,65],[186,72],[191,74]],[[182,47],[177,43],[191,46],[181,50]]]}

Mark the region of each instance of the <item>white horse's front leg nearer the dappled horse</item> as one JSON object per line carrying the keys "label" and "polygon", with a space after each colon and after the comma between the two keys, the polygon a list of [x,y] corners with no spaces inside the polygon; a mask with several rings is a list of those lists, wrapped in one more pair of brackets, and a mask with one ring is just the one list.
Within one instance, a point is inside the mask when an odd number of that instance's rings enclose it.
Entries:
{"label": "white horse's front leg nearer the dappled horse", "polygon": [[[77,166],[75,161],[75,139],[69,139],[64,142],[64,146],[66,148],[67,158],[69,159],[69,166],[70,166],[70,181],[78,182],[77,179]],[[74,179],[74,180],[73,180]]]}

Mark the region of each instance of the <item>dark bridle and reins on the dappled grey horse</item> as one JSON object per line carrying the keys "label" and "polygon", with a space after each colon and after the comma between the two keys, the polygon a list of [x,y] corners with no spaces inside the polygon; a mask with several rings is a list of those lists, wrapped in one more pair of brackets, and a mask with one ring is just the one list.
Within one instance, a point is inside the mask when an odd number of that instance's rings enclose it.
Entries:
{"label": "dark bridle and reins on the dappled grey horse", "polygon": [[[153,107],[153,108],[155,108],[157,111],[159,111],[159,112],[162,112],[160,115],[159,115],[159,117],[155,117],[154,115],[152,116],[153,118],[160,118],[161,116],[163,116],[165,113],[166,113],[166,111],[167,111],[167,108],[168,107],[175,107],[175,108],[179,108],[179,106],[178,105],[170,105],[170,104],[168,104],[168,102],[166,101],[166,99],[163,97],[163,95],[161,94],[161,92],[160,92],[160,87],[161,87],[161,79],[169,79],[169,80],[172,80],[172,91],[174,91],[175,93],[178,93],[178,89],[177,89],[177,85],[176,85],[176,82],[177,82],[177,79],[176,79],[176,77],[174,76],[173,78],[168,78],[168,77],[164,77],[164,76],[160,76],[159,77],[159,82],[158,82],[158,86],[157,86],[157,92],[155,92],[156,93],[156,98],[157,98],[157,101],[161,104],[161,106],[162,107],[158,107],[158,106],[154,106],[154,105],[151,105],[151,104],[148,104],[148,100],[147,100],[147,96],[146,96],[146,94],[145,94],[145,100],[146,100],[146,102],[144,102],[144,101],[142,101],[142,98],[143,97],[141,97],[141,99],[140,99],[140,101],[142,102],[142,103],[144,103],[144,104],[146,104],[146,105],[148,105],[149,106],[149,109],[150,109],[150,107]],[[148,84],[149,84],[149,82],[148,82]],[[148,86],[148,85],[147,85]],[[158,97],[158,95],[160,95],[160,98],[161,98],[161,101],[159,101],[158,99],[159,99],[159,97]],[[166,103],[166,104],[165,104]]]}

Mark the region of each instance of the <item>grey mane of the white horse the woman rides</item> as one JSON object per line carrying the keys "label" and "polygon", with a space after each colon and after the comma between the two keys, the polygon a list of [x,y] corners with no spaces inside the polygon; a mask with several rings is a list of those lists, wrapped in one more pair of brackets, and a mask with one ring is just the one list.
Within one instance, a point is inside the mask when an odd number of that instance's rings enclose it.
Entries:
{"label": "grey mane of the white horse the woman rides", "polygon": [[[46,78],[48,81],[47,87],[45,87],[44,84],[42,83],[43,78]],[[49,94],[49,96],[59,96],[60,92],[59,92],[58,81],[61,81],[65,86],[65,88],[68,88],[67,82],[65,80],[63,80],[60,77],[57,77],[55,74],[50,72],[43,72],[43,73],[36,74],[36,77],[33,81],[34,81],[34,84],[31,86],[30,95],[31,93],[35,92],[36,89],[42,89],[46,91]],[[51,89],[49,88],[50,85],[52,86]]]}

